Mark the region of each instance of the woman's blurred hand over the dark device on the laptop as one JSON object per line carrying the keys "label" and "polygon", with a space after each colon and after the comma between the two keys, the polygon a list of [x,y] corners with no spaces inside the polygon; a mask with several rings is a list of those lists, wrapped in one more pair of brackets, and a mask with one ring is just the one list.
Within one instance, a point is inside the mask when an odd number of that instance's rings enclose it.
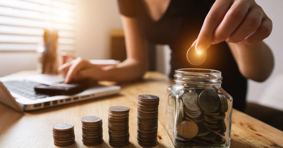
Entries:
{"label": "woman's blurred hand over the dark device on the laptop", "polygon": [[58,68],[58,72],[65,78],[65,83],[84,82],[86,80],[101,79],[102,69],[81,57],[65,63]]}

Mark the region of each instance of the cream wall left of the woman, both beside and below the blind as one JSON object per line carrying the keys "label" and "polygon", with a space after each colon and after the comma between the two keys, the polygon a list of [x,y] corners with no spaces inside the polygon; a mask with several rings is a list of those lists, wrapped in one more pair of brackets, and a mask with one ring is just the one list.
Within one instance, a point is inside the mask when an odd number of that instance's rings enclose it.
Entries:
{"label": "cream wall left of the woman, both beside and below the blind", "polygon": [[[75,54],[87,59],[110,58],[110,30],[122,28],[116,0],[75,1]],[[36,63],[35,51],[0,51],[0,76],[34,70]]]}

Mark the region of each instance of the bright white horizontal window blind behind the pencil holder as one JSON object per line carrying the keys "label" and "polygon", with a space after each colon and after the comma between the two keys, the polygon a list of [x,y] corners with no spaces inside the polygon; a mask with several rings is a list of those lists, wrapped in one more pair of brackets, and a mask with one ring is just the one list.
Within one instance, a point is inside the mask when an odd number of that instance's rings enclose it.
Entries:
{"label": "bright white horizontal window blind behind the pencil holder", "polygon": [[75,49],[76,0],[0,0],[0,51],[36,51],[44,28],[58,30],[58,50]]}

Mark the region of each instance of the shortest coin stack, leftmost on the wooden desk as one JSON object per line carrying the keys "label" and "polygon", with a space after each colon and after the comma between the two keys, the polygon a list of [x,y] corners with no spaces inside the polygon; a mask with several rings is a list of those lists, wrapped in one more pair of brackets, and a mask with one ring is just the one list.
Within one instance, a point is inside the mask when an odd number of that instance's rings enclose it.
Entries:
{"label": "shortest coin stack, leftmost on the wooden desk", "polygon": [[54,145],[67,146],[75,142],[74,125],[72,123],[58,123],[53,126]]}

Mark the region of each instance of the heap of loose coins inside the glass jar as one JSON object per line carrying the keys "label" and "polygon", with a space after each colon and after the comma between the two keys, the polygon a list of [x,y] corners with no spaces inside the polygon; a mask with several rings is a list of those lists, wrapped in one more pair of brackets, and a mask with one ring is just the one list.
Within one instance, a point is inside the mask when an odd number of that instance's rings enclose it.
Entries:
{"label": "heap of loose coins inside the glass jar", "polygon": [[214,90],[194,89],[179,95],[174,142],[185,145],[225,144],[224,119],[227,111],[227,98]]}

